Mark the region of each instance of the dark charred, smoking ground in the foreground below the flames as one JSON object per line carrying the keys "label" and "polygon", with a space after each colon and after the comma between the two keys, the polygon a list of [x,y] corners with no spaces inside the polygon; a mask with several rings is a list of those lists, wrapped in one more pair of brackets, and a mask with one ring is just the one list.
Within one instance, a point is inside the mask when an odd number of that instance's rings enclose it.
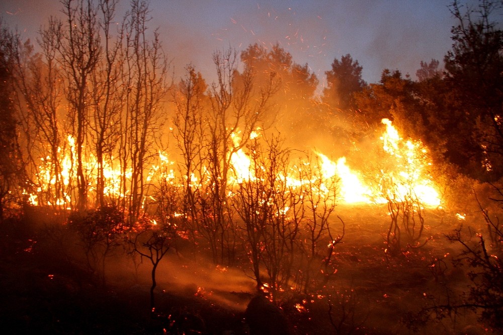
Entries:
{"label": "dark charred, smoking ground in the foreground below the flames", "polygon": [[[460,300],[468,291],[467,269],[452,263],[460,247],[444,234],[460,224],[483,229],[475,214],[459,221],[442,210],[428,211],[424,235],[432,239],[395,258],[384,253],[382,234],[389,224],[385,207],[343,206],[337,214],[346,225],[343,243],[336,246],[337,274],[319,296],[282,306],[295,333],[490,332],[472,311],[438,320],[430,314],[433,320],[428,322],[415,317],[425,306]],[[148,263],[135,268],[131,261],[112,257],[103,285],[68,255],[78,246],[47,237],[47,227],[19,221],[2,228],[0,327],[8,333],[249,333],[244,310],[254,283],[242,271],[215,268],[183,253],[171,255],[158,270],[152,318]],[[294,308],[295,302],[301,307]]]}

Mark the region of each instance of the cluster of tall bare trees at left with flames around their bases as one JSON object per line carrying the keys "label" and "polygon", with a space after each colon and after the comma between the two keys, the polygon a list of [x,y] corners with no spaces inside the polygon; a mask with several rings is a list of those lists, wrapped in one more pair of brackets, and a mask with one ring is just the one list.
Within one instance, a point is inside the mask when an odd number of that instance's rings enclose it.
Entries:
{"label": "cluster of tall bare trees at left with flames around their bases", "polygon": [[117,2],[62,2],[65,20],[41,30],[41,52],[18,49],[16,78],[32,204],[113,204],[134,222],[161,128],[167,62],[146,35],[148,7],[132,3],[117,34]]}

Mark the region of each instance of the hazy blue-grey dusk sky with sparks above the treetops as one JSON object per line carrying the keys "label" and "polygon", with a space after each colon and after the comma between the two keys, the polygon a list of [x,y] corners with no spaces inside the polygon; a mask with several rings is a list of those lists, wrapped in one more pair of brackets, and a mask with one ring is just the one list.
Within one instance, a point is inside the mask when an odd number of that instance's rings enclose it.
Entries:
{"label": "hazy blue-grey dusk sky with sparks above the treetops", "polygon": [[[293,61],[308,64],[320,86],[335,58],[351,54],[363,79],[378,82],[382,70],[398,69],[416,79],[421,61],[438,59],[452,46],[456,24],[452,0],[151,0],[150,27],[157,28],[175,76],[192,63],[207,81],[216,50],[245,50],[279,43]],[[122,9],[129,1],[121,0]],[[49,16],[60,15],[57,0],[2,0],[4,25],[34,41]],[[117,18],[120,21],[120,17]]]}

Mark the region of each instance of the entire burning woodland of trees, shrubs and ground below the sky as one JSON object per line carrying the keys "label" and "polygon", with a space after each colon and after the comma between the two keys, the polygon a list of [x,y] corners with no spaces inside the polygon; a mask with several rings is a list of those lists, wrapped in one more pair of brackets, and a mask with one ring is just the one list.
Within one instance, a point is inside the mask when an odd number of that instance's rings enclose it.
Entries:
{"label": "entire burning woodland of trees, shrubs and ground below the sky", "polygon": [[[168,78],[148,3],[120,24],[117,4],[61,1],[37,48],[0,27],[3,324],[503,330],[499,2],[454,1],[444,69],[433,59],[417,81],[384,69],[367,84],[346,54],[321,97],[278,44],[215,51],[211,83],[192,64]],[[333,154],[363,177],[291,140],[306,125],[345,144]],[[438,202],[418,175],[437,181]]]}

